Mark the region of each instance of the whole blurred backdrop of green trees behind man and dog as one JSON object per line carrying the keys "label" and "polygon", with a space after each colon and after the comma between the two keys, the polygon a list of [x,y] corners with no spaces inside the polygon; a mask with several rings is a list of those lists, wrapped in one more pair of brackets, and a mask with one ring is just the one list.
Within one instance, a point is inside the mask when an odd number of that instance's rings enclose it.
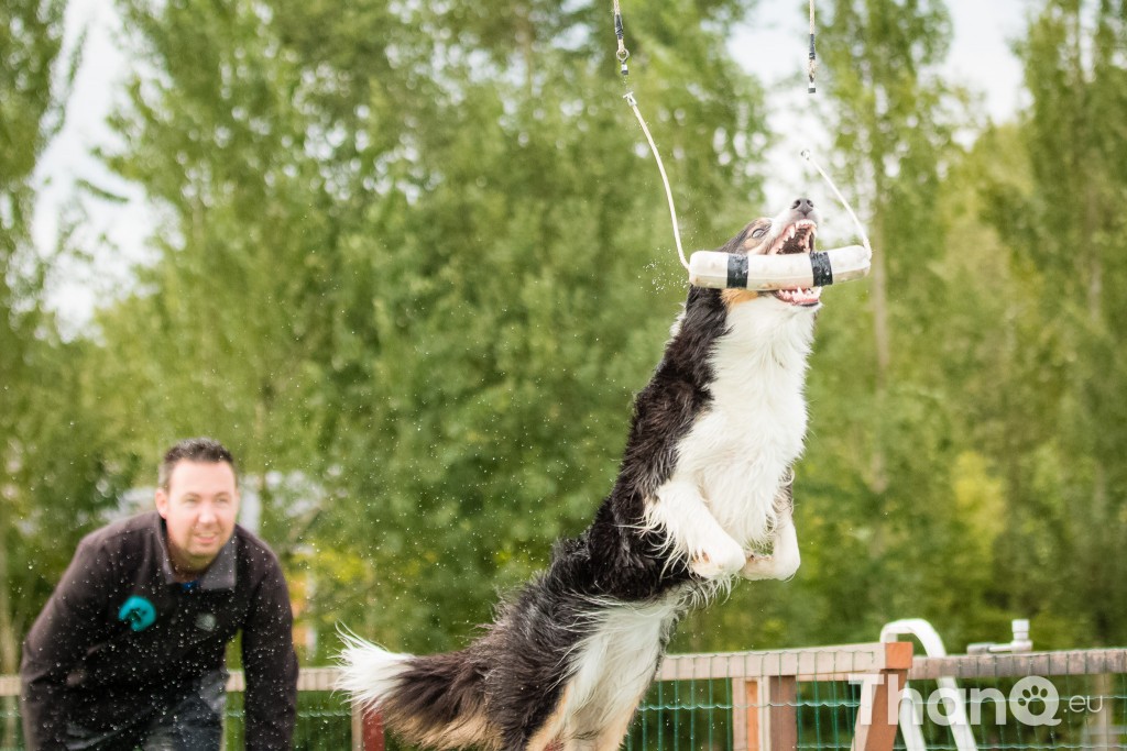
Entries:
{"label": "whole blurred backdrop of green trees behind man and dog", "polygon": [[[684,295],[609,7],[118,0],[137,64],[101,157],[159,229],[65,339],[42,294],[57,259],[27,230],[66,78],[28,77],[68,69],[62,5],[24,5],[48,20],[9,17],[0,80],[3,672],[73,540],[201,433],[240,458],[304,661],[338,623],[463,644],[589,521]],[[778,209],[772,97],[727,43],[754,5],[635,5],[631,84],[686,248],[716,247]],[[1127,10],[1035,5],[1029,106],[1002,124],[940,74],[941,1],[819,6],[831,169],[877,266],[825,295],[802,569],[737,588],[674,649],[871,640],[908,616],[952,647],[1014,617],[1039,646],[1127,640]]]}

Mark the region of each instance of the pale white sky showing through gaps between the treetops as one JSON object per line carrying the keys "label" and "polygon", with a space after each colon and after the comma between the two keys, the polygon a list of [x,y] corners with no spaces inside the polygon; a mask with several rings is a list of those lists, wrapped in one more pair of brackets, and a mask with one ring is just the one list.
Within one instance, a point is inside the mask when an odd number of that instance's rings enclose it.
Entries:
{"label": "pale white sky showing through gaps between the treetops", "polygon": [[[986,114],[995,122],[1008,119],[1023,104],[1021,69],[1011,43],[1024,28],[1031,5],[1031,0],[948,2],[955,36],[944,72],[949,80],[980,92]],[[630,0],[623,0],[622,6],[623,16],[629,19]],[[813,147],[817,154],[827,138],[807,99],[805,74],[809,28],[807,18],[800,12],[802,7],[801,0],[760,0],[748,24],[734,29],[731,35],[731,50],[737,61],[766,83],[773,105],[784,105],[775,108],[769,122],[778,142],[767,152],[773,177],[767,179],[765,191],[769,205],[778,203],[779,207],[796,189],[806,189],[797,185],[810,179],[818,184],[811,194],[832,197],[799,155],[806,147]],[[69,116],[62,132],[44,153],[37,172],[39,190],[34,241],[43,253],[55,248],[60,216],[74,202],[76,186],[82,180],[108,188],[125,200],[83,199],[86,216],[77,230],[76,241],[85,249],[96,249],[95,271],[87,268],[64,270],[48,295],[48,303],[59,311],[64,330],[70,331],[80,329],[89,320],[100,298],[128,285],[130,268],[144,260],[144,240],[157,221],[143,193],[115,180],[91,155],[97,146],[114,145],[105,117],[122,97],[121,83],[130,71],[130,62],[115,42],[121,34],[112,0],[71,0],[66,11],[66,39],[71,48],[83,28],[82,64],[69,102]],[[639,105],[645,114],[649,102]],[[623,122],[630,125],[631,119],[624,109]],[[827,168],[825,158],[819,161]],[[660,200],[660,196],[655,200]],[[835,202],[831,198],[831,203]],[[836,214],[837,220],[827,217],[831,231],[848,232],[841,218],[844,213]],[[835,221],[837,223],[833,224]]]}

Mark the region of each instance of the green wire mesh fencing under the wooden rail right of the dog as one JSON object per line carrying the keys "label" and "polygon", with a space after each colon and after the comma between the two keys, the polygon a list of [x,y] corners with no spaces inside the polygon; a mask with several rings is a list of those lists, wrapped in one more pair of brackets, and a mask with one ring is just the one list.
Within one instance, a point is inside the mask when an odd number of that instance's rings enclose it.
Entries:
{"label": "green wire mesh fencing under the wooden rail right of the dog", "polygon": [[[1055,662],[1054,669],[1072,673],[1063,676],[990,674],[992,664],[1003,664],[1001,658],[994,656],[970,662],[974,669],[967,671],[969,677],[952,677],[953,686],[940,683],[935,678],[912,680],[909,673],[906,701],[914,703],[914,715],[919,717],[919,730],[912,733],[916,741],[909,743],[902,730],[894,748],[1127,751],[1127,674],[1089,674],[1091,667],[1084,664],[1085,656],[1083,652],[1067,653],[1066,660]],[[745,727],[749,723],[754,733],[754,728],[766,722],[772,704],[740,699],[734,696],[731,685],[730,680],[718,679],[656,683],[639,708],[623,748],[630,751],[765,748],[764,737],[739,739],[737,743],[734,728],[738,723]],[[795,700],[783,705],[793,710],[797,748],[848,751],[864,690],[860,682],[846,680],[799,681]],[[957,737],[959,731],[953,727],[952,700],[962,705],[961,743]],[[748,714],[756,716],[749,718]]]}

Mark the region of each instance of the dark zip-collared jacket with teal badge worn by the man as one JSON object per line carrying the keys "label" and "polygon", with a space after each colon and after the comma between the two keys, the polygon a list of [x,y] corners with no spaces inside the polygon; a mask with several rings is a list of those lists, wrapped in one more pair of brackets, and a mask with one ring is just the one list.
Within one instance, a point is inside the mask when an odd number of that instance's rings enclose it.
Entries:
{"label": "dark zip-collared jacket with teal badge worn by the man", "polygon": [[224,669],[242,631],[247,749],[289,749],[296,706],[293,616],[282,567],[239,527],[198,582],[177,583],[156,511],[87,535],[24,642],[29,749],[61,749],[68,722],[112,730]]}

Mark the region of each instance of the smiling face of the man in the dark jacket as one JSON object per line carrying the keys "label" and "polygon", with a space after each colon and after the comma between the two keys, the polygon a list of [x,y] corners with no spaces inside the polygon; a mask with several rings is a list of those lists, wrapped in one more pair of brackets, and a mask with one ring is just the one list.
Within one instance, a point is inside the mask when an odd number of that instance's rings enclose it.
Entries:
{"label": "smiling face of the man in the dark jacket", "polygon": [[234,471],[225,462],[181,459],[172,467],[168,491],[157,490],[157,511],[165,518],[176,573],[202,573],[234,531]]}

